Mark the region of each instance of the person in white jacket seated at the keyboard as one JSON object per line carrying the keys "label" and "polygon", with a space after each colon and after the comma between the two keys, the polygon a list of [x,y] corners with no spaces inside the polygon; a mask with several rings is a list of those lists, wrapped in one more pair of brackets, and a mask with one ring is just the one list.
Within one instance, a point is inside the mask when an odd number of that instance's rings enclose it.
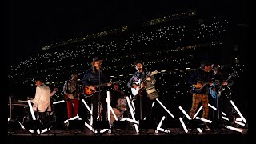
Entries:
{"label": "person in white jacket seated at the keyboard", "polygon": [[35,85],[37,86],[35,96],[30,100],[33,103],[33,110],[35,112],[51,111],[50,97],[57,92],[58,88],[50,92],[50,87],[46,86],[40,78],[35,80]]}

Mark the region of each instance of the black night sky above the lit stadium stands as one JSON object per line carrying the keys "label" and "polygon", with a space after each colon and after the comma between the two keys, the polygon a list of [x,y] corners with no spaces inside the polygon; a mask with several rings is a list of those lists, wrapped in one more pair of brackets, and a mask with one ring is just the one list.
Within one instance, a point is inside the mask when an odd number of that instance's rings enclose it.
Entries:
{"label": "black night sky above the lit stadium stands", "polygon": [[7,66],[26,58],[42,46],[85,36],[113,26],[125,26],[176,14],[192,8],[223,14],[237,23],[249,23],[247,1],[232,0],[135,0],[115,1],[20,1],[6,2]]}

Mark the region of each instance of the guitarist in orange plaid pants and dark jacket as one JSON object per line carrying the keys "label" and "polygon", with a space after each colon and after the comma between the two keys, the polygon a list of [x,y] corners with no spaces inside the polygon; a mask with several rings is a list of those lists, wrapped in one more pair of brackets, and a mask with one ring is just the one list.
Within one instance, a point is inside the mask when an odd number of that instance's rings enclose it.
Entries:
{"label": "guitarist in orange plaid pants and dark jacket", "polygon": [[[192,106],[190,108],[190,117],[194,118],[194,114],[198,108],[198,104],[202,103],[202,118],[208,119],[209,106],[208,106],[208,94],[210,86],[212,86],[213,72],[211,69],[211,63],[202,61],[198,70],[195,70],[190,75],[189,84],[194,87],[192,92]],[[205,123],[204,130],[210,130],[207,123]]]}

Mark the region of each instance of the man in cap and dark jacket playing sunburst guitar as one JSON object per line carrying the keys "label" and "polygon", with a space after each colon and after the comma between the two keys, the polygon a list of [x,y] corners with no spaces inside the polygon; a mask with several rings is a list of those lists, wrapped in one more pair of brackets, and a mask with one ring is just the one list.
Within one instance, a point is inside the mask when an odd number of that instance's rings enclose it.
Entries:
{"label": "man in cap and dark jacket playing sunburst guitar", "polygon": [[[85,94],[90,94],[92,111],[93,111],[93,122],[97,121],[99,114],[99,120],[106,121],[106,90],[108,86],[111,86],[110,77],[102,69],[102,58],[94,57],[91,62],[90,69],[86,70],[82,78],[82,83],[85,86]],[[100,107],[102,106],[102,115],[100,114]]]}

